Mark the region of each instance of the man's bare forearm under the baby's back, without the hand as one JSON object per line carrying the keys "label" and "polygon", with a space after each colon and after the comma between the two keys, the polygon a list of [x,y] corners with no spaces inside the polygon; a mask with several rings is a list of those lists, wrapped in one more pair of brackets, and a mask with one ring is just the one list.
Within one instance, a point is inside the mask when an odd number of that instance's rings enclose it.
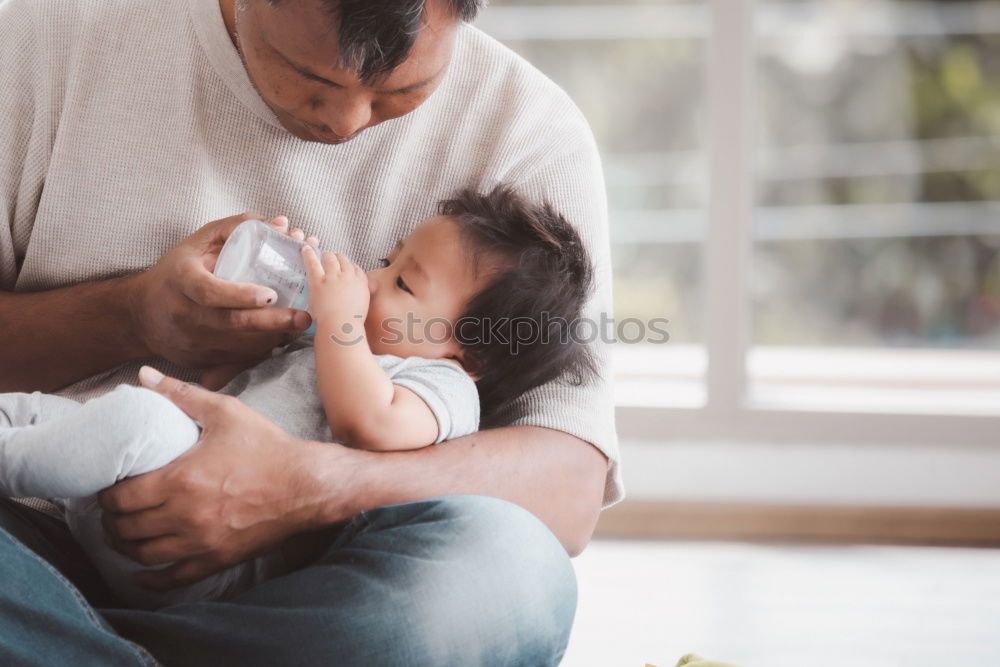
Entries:
{"label": "man's bare forearm under the baby's back, without the hand", "polygon": [[[327,448],[331,449],[331,448]],[[318,523],[334,523],[365,509],[435,496],[476,494],[516,503],[545,522],[570,555],[586,546],[604,494],[607,458],[566,433],[531,426],[482,431],[406,452],[352,455],[356,503],[324,506],[324,476],[342,485],[343,459],[317,450],[308,471]],[[329,467],[324,465],[324,461]],[[336,491],[342,496],[343,490]],[[324,514],[324,507],[330,512]]]}

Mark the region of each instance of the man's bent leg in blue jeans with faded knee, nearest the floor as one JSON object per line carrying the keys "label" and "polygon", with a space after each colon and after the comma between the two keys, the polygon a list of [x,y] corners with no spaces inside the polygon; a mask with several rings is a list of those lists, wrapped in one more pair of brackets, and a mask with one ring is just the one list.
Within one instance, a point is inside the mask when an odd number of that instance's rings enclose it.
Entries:
{"label": "man's bent leg in blue jeans with faded knee, nearest the floor", "polygon": [[317,537],[313,562],[231,601],[101,614],[168,663],[554,664],[565,649],[572,566],[520,507],[449,496]]}

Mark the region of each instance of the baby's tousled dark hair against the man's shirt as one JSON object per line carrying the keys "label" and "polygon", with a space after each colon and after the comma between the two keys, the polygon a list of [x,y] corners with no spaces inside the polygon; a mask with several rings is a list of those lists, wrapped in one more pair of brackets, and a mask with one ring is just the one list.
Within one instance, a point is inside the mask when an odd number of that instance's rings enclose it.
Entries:
{"label": "baby's tousled dark hair against the man's shirt", "polygon": [[573,335],[594,281],[573,226],[505,185],[462,190],[438,212],[459,223],[470,261],[492,271],[455,326],[467,368],[479,376],[482,425],[499,425],[514,399],[560,376],[572,384],[596,376],[593,352]]}

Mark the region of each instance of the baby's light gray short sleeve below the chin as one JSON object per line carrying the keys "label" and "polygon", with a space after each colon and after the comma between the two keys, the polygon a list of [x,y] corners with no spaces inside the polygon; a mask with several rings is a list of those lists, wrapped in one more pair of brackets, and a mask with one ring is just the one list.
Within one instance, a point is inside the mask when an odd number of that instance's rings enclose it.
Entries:
{"label": "baby's light gray short sleeve below the chin", "polygon": [[443,359],[393,355],[381,355],[378,360],[393,384],[406,387],[430,408],[438,424],[434,444],[479,430],[476,383],[457,365]]}

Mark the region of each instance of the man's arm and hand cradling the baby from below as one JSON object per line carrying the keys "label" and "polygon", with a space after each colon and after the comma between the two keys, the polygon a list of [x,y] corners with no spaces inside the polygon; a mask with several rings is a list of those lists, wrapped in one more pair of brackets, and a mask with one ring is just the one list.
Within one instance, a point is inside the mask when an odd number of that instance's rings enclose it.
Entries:
{"label": "man's arm and hand cradling the baby from below", "polygon": [[[152,372],[150,372],[152,371]],[[203,427],[198,446],[170,465],[100,494],[115,547],[160,571],[168,589],[264,553],[291,535],[386,504],[442,495],[504,498],[541,519],[579,554],[601,509],[607,459],[558,431],[516,426],[424,449],[370,452],[299,440],[231,396],[153,369],[143,383]]]}

